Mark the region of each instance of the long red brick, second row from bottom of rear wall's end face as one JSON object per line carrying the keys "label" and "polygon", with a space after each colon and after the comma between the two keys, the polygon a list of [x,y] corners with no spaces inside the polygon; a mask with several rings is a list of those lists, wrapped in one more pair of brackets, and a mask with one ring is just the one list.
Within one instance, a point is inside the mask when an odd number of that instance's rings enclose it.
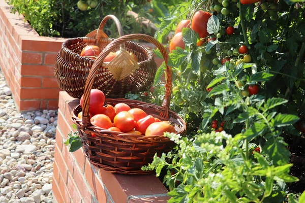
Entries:
{"label": "long red brick, second row from bottom of rear wall's end face", "polygon": [[60,89],[22,88],[20,99],[57,99]]}

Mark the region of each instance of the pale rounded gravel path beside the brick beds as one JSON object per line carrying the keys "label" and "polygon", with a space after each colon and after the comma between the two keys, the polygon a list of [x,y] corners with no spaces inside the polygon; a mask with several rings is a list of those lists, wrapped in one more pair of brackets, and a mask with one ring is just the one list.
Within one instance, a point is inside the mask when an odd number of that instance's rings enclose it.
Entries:
{"label": "pale rounded gravel path beside the brick beds", "polygon": [[0,72],[0,202],[52,202],[57,111],[20,114]]}

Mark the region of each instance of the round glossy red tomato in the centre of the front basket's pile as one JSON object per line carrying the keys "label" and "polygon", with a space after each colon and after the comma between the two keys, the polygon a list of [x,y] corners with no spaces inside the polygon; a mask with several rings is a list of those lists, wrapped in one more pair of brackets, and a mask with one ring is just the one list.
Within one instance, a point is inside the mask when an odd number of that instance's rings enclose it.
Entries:
{"label": "round glossy red tomato in the centre of the front basket's pile", "polygon": [[127,111],[119,112],[113,119],[113,125],[122,132],[131,131],[136,126],[135,117]]}

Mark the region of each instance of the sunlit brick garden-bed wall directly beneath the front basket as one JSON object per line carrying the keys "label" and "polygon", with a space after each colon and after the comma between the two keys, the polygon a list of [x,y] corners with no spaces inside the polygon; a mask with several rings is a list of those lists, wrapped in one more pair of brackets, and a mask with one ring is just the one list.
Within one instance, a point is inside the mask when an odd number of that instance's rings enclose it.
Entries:
{"label": "sunlit brick garden-bed wall directly beneath the front basket", "polygon": [[167,189],[154,174],[111,174],[91,165],[83,150],[70,153],[63,144],[72,129],[72,109],[78,99],[66,92],[59,93],[58,125],[56,131],[53,195],[58,203],[165,203]]}

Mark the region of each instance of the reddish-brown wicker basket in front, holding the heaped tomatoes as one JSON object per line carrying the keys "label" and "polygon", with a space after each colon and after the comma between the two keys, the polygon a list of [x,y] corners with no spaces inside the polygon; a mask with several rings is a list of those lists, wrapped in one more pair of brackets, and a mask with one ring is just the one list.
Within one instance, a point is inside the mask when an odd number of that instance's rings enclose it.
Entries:
{"label": "reddish-brown wicker basket in front, holding the heaped tomatoes", "polygon": [[[168,55],[165,48],[154,38],[146,35],[135,34],[120,37],[111,42],[103,52],[98,56],[92,69],[90,70],[86,81],[84,91],[83,109],[80,105],[75,107],[72,112],[72,120],[77,125],[80,138],[83,143],[83,149],[90,163],[102,168],[105,171],[120,174],[146,174],[149,171],[142,171],[141,166],[147,165],[153,160],[156,152],[158,155],[168,152],[173,147],[173,142],[163,135],[160,136],[139,136],[136,134],[127,134],[116,132],[94,126],[90,123],[89,117],[89,99],[90,90],[94,84],[96,72],[100,63],[113,50],[114,47],[127,42],[128,40],[140,39],[155,44],[161,51],[165,62],[167,63]],[[184,133],[186,130],[185,121],[176,113],[169,111],[169,104],[172,91],[172,70],[167,66],[166,69],[166,93],[162,107],[144,103],[142,101],[107,98],[105,102],[110,105],[117,103],[126,103],[131,108],[140,108],[148,115],[167,120],[174,123],[177,133]],[[82,119],[77,117],[82,111]],[[92,133],[96,137],[92,137]]]}

